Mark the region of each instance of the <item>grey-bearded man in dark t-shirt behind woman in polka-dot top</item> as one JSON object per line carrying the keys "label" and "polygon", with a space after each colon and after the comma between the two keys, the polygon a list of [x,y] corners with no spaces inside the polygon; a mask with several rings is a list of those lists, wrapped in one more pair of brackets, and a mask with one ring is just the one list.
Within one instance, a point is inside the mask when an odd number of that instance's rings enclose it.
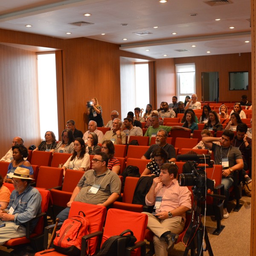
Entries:
{"label": "grey-bearded man in dark t-shirt behind woman in polka-dot top", "polygon": [[160,129],[159,131],[157,131],[156,144],[151,145],[148,148],[148,151],[146,151],[146,153],[141,157],[141,159],[150,159],[151,153],[154,151],[154,149],[161,147],[168,153],[168,160],[170,162],[175,162],[176,161],[175,148],[173,145],[168,144],[166,142],[167,137],[168,137],[168,133],[166,130]]}

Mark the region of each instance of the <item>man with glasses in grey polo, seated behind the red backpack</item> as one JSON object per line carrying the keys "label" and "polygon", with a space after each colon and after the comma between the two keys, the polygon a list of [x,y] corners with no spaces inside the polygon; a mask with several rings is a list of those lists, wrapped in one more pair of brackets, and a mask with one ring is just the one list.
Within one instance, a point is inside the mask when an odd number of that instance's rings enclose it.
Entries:
{"label": "man with glasses in grey polo, seated behind the red backpack", "polygon": [[107,166],[108,156],[106,153],[99,152],[94,155],[92,169],[85,172],[81,177],[73,191],[70,201],[67,203],[67,208],[57,216],[61,222],[68,218],[73,201],[108,207],[119,198],[121,180]]}

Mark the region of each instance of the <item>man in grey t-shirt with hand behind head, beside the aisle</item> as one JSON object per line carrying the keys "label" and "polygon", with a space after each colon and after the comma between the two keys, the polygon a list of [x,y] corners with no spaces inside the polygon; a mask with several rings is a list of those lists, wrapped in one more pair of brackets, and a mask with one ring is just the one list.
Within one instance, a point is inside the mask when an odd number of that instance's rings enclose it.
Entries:
{"label": "man in grey t-shirt with hand behind head, beside the aisle", "polygon": [[[225,190],[225,200],[223,209],[223,218],[228,218],[229,213],[227,212],[227,204],[229,200],[229,189],[233,185],[233,172],[243,169],[244,163],[240,150],[231,145],[234,138],[233,131],[225,130],[221,138],[204,137],[202,141],[204,145],[211,149],[214,153],[215,164],[222,165],[222,180]],[[213,143],[218,141],[221,145]]]}

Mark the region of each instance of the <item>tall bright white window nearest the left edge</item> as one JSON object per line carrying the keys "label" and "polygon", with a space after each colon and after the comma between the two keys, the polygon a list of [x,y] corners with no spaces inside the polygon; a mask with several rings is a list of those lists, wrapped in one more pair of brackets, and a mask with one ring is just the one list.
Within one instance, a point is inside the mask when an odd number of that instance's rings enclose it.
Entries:
{"label": "tall bright white window nearest the left edge", "polygon": [[41,139],[46,131],[58,138],[55,53],[38,53],[38,99]]}

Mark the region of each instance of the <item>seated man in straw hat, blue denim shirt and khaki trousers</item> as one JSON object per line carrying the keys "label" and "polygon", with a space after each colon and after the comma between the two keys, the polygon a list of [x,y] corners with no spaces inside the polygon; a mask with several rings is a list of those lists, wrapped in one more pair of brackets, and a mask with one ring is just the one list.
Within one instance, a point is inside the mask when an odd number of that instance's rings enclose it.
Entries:
{"label": "seated man in straw hat, blue denim shirt and khaki trousers", "polygon": [[33,218],[41,213],[41,194],[30,186],[33,179],[29,177],[29,170],[18,166],[9,176],[15,189],[8,207],[0,210],[1,224],[5,224],[0,228],[0,245],[9,239],[26,236],[26,222],[30,220],[29,229],[32,233],[38,222],[38,219]]}

